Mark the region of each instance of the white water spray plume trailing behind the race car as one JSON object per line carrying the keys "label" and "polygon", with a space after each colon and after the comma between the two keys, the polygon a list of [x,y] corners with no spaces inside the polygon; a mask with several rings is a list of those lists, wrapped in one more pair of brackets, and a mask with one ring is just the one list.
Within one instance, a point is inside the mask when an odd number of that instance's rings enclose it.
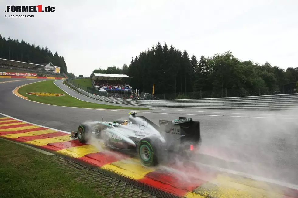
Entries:
{"label": "white water spray plume trailing behind the race car", "polygon": [[[213,167],[298,189],[297,112],[297,108],[291,108],[262,112],[264,117],[258,118],[227,117],[218,129],[213,126],[210,133],[202,134],[204,141],[199,152],[209,152],[210,156],[194,155],[192,161],[198,168]],[[273,189],[274,186],[267,186],[265,190]]]}

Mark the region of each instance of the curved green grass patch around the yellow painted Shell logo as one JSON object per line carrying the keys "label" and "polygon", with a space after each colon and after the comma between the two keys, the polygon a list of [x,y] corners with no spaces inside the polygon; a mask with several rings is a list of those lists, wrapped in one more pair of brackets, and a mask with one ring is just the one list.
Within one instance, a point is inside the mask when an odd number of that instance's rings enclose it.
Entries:
{"label": "curved green grass patch around the yellow painted Shell logo", "polygon": [[[66,94],[63,90],[57,87],[54,80],[45,80],[32,84],[25,85],[21,87],[18,92],[19,94],[28,97],[29,100],[41,102],[45,104],[53,104],[58,106],[66,107],[81,107],[81,108],[94,108],[94,109],[137,109],[137,110],[148,110],[148,108],[138,108],[138,107],[121,107],[106,104],[96,104],[92,102],[85,102],[78,100],[70,95]],[[65,94],[65,96],[36,96],[29,95],[29,92],[48,92],[48,93],[58,93]]]}

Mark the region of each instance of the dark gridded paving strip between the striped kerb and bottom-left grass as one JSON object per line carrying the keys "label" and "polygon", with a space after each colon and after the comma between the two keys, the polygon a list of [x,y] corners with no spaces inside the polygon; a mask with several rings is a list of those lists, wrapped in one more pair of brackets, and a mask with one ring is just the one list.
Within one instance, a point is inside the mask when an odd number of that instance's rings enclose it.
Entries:
{"label": "dark gridded paving strip between the striped kerb and bottom-left grass", "polygon": [[58,166],[66,167],[78,182],[95,189],[102,196],[123,198],[178,198],[160,189],[142,184],[136,180],[111,171],[90,167],[64,156],[53,155]]}

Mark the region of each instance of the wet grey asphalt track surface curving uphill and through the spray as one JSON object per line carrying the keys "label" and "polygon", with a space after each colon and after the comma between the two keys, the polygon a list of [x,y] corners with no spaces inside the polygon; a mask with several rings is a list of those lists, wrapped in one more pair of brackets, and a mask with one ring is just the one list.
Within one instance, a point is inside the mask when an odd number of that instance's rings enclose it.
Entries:
{"label": "wet grey asphalt track surface curving uphill and through the spray", "polygon": [[[129,110],[51,106],[24,100],[12,93],[12,90],[20,85],[42,80],[45,79],[0,84],[0,112],[64,131],[76,130],[82,122],[101,120],[102,116],[108,121],[127,119]],[[104,103],[78,94],[62,84],[62,80],[57,80],[56,83],[81,100]],[[227,164],[211,160],[206,162],[208,164],[298,184],[297,111],[151,108],[138,112],[138,115],[144,115],[157,123],[159,119],[192,117],[201,122],[202,148],[206,153],[224,152],[229,155],[227,158],[242,161]]]}

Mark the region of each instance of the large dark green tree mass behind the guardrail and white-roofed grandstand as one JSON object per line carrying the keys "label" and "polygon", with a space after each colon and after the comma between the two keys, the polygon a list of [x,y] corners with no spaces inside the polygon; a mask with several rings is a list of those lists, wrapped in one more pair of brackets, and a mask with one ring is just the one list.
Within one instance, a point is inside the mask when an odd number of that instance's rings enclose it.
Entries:
{"label": "large dark green tree mass behind the guardrail and white-roofed grandstand", "polygon": [[198,59],[159,42],[132,58],[129,66],[93,73],[126,74],[131,77],[130,85],[140,92],[152,94],[155,84],[154,94],[180,93],[184,98],[201,93],[209,95],[206,97],[225,97],[226,92],[230,97],[273,94],[285,84],[298,82],[298,67],[283,70],[268,62],[240,61],[230,51]]}

